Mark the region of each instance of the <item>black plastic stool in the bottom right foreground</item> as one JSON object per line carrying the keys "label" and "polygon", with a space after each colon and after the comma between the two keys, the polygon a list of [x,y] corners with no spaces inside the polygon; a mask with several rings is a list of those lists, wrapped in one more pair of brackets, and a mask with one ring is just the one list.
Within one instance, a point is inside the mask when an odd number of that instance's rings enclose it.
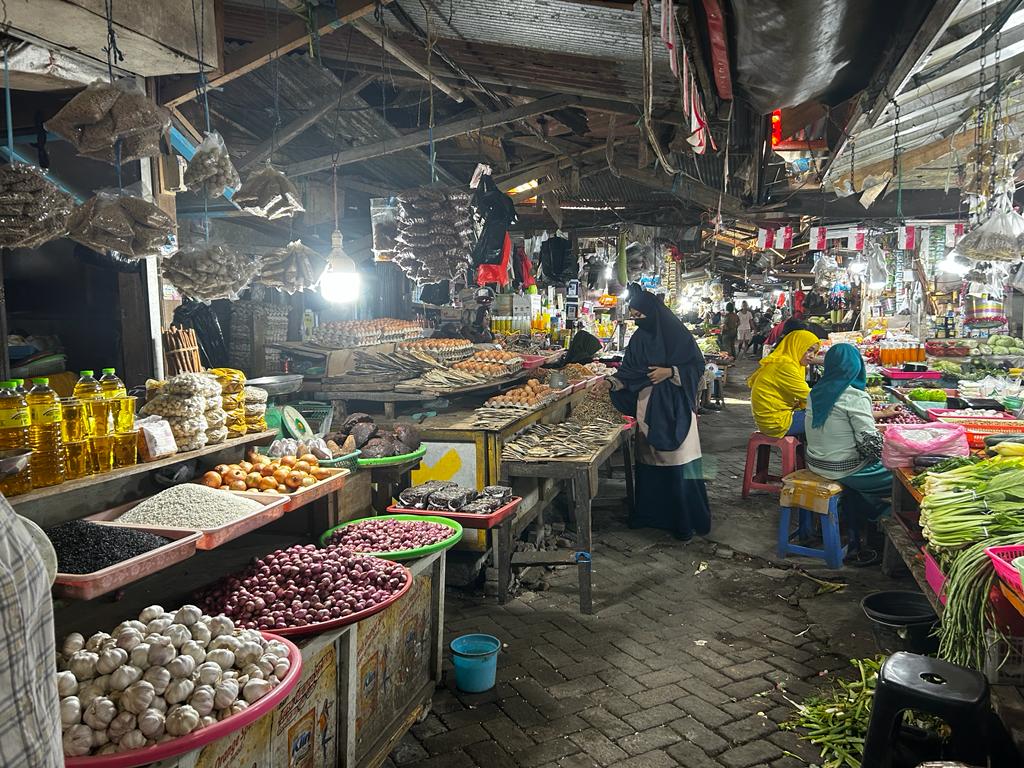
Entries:
{"label": "black plastic stool in the bottom right foreground", "polygon": [[988,681],[929,656],[899,651],[882,665],[874,686],[862,765],[887,768],[904,710],[942,718],[952,728],[946,760],[988,764]]}

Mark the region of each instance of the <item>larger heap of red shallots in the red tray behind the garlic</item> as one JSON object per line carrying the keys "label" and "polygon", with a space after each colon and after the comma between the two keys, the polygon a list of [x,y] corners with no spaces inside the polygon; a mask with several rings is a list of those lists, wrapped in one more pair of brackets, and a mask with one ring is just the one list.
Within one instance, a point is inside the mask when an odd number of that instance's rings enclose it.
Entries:
{"label": "larger heap of red shallots in the red tray behind the garlic", "polygon": [[[268,562],[274,563],[269,569]],[[221,580],[197,603],[249,629],[305,627],[384,602],[406,586],[407,578],[397,563],[337,546],[299,545]]]}

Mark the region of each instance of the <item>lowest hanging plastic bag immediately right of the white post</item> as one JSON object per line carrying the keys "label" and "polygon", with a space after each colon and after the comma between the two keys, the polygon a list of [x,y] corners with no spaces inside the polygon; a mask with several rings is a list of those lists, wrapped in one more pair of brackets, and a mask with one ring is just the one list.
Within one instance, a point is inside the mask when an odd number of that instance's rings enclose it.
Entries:
{"label": "lowest hanging plastic bag immediately right of the white post", "polygon": [[224,245],[200,243],[163,259],[161,274],[201,301],[234,300],[259,272],[260,260]]}

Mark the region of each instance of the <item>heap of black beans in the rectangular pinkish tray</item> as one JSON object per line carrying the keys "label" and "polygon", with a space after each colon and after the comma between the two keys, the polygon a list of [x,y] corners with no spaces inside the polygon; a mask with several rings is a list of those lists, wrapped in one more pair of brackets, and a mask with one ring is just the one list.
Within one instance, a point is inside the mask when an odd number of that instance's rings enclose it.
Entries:
{"label": "heap of black beans in the rectangular pinkish tray", "polygon": [[56,550],[57,570],[61,573],[92,573],[171,543],[170,539],[143,530],[85,520],[47,528],[46,536]]}

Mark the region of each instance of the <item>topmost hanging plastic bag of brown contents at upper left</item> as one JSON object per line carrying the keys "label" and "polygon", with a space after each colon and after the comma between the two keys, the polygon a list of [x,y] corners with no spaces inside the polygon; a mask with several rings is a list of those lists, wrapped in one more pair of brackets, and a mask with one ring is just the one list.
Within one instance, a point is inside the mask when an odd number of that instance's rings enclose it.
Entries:
{"label": "topmost hanging plastic bag of brown contents at upper left", "polygon": [[63,136],[82,155],[108,163],[159,155],[171,115],[132,78],[96,81],[52,118],[46,130]]}

